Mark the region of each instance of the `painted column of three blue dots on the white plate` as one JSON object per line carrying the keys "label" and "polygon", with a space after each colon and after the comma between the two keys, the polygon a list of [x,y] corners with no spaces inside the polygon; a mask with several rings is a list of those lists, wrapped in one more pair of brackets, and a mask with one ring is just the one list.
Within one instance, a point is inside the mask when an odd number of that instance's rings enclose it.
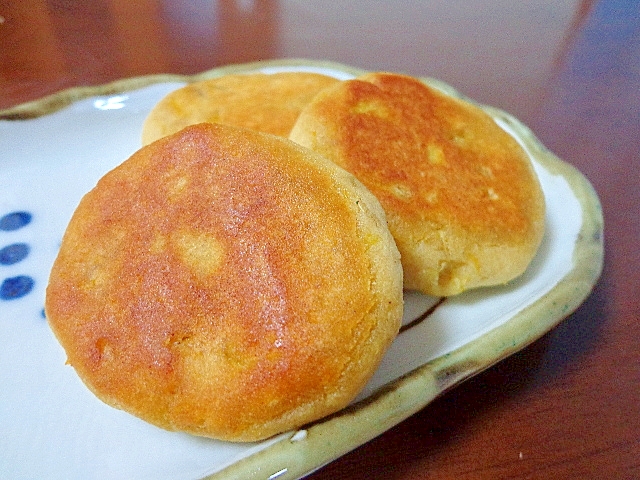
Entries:
{"label": "painted column of three blue dots on the white plate", "polygon": [[[0,231],[10,232],[18,230],[31,222],[29,212],[12,212],[0,217]],[[26,243],[12,243],[0,248],[0,266],[13,265],[24,260],[29,255],[29,245]],[[31,290],[35,281],[27,275],[5,278],[0,284],[0,300],[13,300],[24,297]]]}

